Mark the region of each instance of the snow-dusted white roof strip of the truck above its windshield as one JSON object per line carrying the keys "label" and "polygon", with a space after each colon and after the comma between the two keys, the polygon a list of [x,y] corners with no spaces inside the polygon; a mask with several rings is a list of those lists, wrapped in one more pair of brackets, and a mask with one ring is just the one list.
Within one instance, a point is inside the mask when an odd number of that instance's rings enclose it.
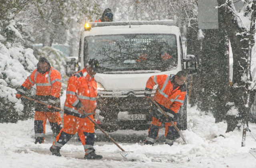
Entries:
{"label": "snow-dusted white roof strip of the truck above its windshield", "polygon": [[[83,36],[106,34],[180,34],[174,20],[90,22]],[[150,26],[151,25],[151,26]]]}

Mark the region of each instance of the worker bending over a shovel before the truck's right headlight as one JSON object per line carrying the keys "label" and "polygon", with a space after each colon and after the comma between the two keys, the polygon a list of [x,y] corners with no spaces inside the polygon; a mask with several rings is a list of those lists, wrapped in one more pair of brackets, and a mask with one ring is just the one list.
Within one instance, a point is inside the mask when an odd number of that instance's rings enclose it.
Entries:
{"label": "worker bending over a shovel before the truck's right headlight", "polygon": [[183,71],[179,71],[176,75],[168,76],[161,74],[151,76],[148,79],[144,95],[150,97],[153,87],[158,84],[154,100],[162,110],[166,112],[168,118],[162,114],[155,104],[152,105],[150,109],[152,122],[148,129],[148,136],[146,137],[144,144],[153,145],[156,142],[159,128],[163,122],[165,123],[164,136],[166,137],[166,144],[173,144],[175,138],[178,136],[178,132],[172,126],[170,121],[173,121],[176,125],[176,122],[180,117],[178,110],[180,109],[180,106],[182,106],[186,95],[185,80],[186,73]]}

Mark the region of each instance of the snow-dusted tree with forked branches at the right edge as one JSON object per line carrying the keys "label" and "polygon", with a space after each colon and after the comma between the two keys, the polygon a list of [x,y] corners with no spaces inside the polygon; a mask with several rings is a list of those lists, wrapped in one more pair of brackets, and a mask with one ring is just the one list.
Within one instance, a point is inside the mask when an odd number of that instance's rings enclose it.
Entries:
{"label": "snow-dusted tree with forked branches at the right edge", "polygon": [[[252,46],[254,45],[256,0],[244,0],[241,10],[236,10],[232,0],[218,0],[220,24],[225,28],[233,52],[233,81],[230,88],[227,132],[234,130],[239,119],[248,118],[255,91],[250,72]],[[255,88],[254,88],[255,90]],[[234,109],[237,113],[234,114]],[[232,112],[231,112],[232,111]]]}

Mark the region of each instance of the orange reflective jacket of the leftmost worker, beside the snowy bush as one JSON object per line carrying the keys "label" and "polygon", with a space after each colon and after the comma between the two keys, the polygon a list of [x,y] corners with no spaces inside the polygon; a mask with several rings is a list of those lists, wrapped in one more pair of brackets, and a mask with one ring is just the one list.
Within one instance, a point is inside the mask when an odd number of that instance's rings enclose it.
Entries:
{"label": "orange reflective jacket of the leftmost worker, beside the snowy bush", "polygon": [[36,84],[36,96],[54,96],[59,98],[61,76],[58,70],[51,67],[49,71],[42,74],[35,69],[22,86],[29,90],[34,84]]}

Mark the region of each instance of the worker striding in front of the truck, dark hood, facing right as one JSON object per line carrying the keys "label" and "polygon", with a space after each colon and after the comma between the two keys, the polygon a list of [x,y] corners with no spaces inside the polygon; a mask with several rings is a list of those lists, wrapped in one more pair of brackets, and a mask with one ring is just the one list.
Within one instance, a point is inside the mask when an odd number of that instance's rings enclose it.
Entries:
{"label": "worker striding in front of the truck, dark hood, facing right", "polygon": [[94,124],[84,116],[84,112],[92,120],[96,110],[97,84],[94,75],[98,69],[98,60],[90,59],[85,68],[68,79],[66,101],[64,104],[63,128],[56,137],[50,151],[52,155],[61,156],[60,148],[77,132],[84,146],[84,159],[101,159],[95,154]]}

